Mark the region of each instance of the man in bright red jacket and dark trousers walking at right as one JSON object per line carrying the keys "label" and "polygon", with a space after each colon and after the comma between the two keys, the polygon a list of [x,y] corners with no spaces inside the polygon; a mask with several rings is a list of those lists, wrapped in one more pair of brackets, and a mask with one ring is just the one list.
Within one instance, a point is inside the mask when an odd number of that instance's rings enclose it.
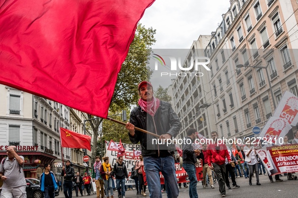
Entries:
{"label": "man in bright red jacket and dark trousers walking at right", "polygon": [[231,163],[230,155],[227,151],[227,147],[223,142],[218,143],[217,132],[211,132],[212,141],[207,147],[207,160],[210,169],[214,169],[221,197],[225,197],[225,158],[227,158],[228,163]]}

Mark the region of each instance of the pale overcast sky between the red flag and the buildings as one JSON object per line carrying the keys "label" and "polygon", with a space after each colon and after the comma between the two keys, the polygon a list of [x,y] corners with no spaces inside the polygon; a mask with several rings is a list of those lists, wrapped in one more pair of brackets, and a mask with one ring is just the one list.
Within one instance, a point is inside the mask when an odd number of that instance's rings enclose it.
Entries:
{"label": "pale overcast sky between the red flag and the buildings", "polygon": [[[216,30],[229,5],[229,0],[156,0],[140,23],[156,30],[153,50],[190,49],[200,35],[210,35]],[[154,89],[159,84],[167,87],[171,83],[170,78],[160,77],[160,69],[151,78]]]}

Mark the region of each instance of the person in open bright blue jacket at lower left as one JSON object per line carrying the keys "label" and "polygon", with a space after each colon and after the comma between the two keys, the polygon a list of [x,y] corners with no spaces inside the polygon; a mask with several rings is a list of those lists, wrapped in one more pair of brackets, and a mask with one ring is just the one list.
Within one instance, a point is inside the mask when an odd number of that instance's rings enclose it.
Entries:
{"label": "person in open bright blue jacket at lower left", "polygon": [[44,173],[40,176],[40,190],[44,193],[44,198],[54,198],[55,190],[58,189],[57,180],[51,166],[44,164]]}

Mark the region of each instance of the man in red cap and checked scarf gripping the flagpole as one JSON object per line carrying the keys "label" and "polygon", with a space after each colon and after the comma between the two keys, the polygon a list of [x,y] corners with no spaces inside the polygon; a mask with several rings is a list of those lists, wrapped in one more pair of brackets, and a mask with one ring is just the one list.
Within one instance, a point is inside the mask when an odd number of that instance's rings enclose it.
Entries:
{"label": "man in red cap and checked scarf gripping the flagpole", "polygon": [[[176,137],[180,131],[180,120],[169,103],[153,96],[153,87],[150,82],[142,81],[138,86],[138,92],[139,105],[132,110],[130,121],[126,124],[129,138],[133,144],[141,143],[150,197],[162,197],[159,179],[159,171],[161,171],[166,183],[167,196],[175,198],[179,194],[172,156],[175,145],[167,144],[167,140]],[[160,137],[156,138],[140,132],[134,127]],[[162,144],[163,141],[165,144]]]}

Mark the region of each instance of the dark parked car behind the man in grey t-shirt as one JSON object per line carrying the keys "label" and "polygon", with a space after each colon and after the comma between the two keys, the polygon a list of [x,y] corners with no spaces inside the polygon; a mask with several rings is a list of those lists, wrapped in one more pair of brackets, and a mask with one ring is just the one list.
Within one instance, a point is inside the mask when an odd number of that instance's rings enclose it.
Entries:
{"label": "dark parked car behind the man in grey t-shirt", "polygon": [[[40,190],[39,180],[35,178],[26,178],[27,198],[42,198],[43,192]],[[59,191],[55,190],[55,196],[59,195]]]}

